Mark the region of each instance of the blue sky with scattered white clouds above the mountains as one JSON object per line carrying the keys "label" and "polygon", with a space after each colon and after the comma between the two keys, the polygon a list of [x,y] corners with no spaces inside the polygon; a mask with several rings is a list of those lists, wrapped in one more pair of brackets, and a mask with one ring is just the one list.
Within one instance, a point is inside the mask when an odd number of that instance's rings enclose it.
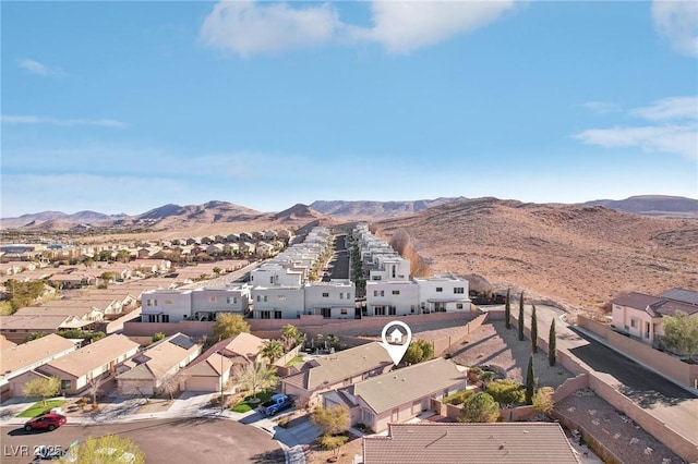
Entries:
{"label": "blue sky with scattered white clouds above the mountains", "polygon": [[2,217],[698,197],[698,2],[2,2]]}

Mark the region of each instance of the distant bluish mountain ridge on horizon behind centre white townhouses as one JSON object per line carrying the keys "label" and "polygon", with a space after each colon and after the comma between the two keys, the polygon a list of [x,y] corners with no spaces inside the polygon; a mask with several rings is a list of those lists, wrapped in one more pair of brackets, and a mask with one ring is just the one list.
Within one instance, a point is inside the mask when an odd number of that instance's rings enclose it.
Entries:
{"label": "distant bluish mountain ridge on horizon behind centre white townhouses", "polygon": [[436,199],[417,199],[408,202],[323,202],[317,200],[311,203],[314,210],[344,220],[369,220],[369,219],[387,219],[398,218],[401,216],[413,215],[423,211],[433,206],[444,205],[446,203],[464,199],[457,198],[436,198]]}

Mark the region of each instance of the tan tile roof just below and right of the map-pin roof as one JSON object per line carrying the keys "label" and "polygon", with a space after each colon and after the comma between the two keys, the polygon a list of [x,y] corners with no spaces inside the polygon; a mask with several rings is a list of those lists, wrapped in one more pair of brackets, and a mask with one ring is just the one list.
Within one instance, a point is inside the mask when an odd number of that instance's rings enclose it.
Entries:
{"label": "tan tile roof just below and right of the map-pin roof", "polygon": [[372,377],[342,389],[360,396],[373,411],[383,413],[401,404],[434,393],[442,393],[467,380],[465,373],[450,361],[437,357]]}

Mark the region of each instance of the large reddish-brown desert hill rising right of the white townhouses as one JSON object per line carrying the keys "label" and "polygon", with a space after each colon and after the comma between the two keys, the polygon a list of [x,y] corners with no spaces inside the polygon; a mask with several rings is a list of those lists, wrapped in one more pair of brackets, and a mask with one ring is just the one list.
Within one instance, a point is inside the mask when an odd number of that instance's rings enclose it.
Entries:
{"label": "large reddish-brown desert hill rising right of the white townhouses", "polygon": [[625,291],[698,288],[698,222],[602,206],[465,199],[382,220],[404,229],[434,271],[479,274],[498,289],[571,307],[593,307]]}

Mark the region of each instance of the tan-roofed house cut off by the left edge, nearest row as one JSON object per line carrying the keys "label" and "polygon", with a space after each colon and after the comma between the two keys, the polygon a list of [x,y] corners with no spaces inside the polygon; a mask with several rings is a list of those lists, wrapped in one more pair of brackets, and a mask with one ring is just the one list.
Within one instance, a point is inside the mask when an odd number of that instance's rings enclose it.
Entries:
{"label": "tan-roofed house cut off by the left edge, nearest row", "polygon": [[0,351],[0,396],[5,401],[23,394],[33,369],[75,351],[75,343],[55,333]]}

